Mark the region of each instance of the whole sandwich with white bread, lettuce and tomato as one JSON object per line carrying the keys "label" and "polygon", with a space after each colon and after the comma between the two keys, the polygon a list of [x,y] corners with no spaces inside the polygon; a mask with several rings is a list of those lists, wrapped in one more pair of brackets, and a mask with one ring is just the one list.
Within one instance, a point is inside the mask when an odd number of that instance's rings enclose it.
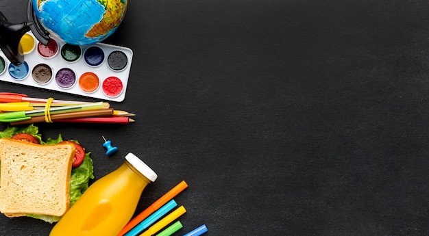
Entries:
{"label": "whole sandwich with white bread, lettuce and tomato", "polygon": [[[39,144],[13,139],[23,133]],[[0,131],[0,212],[58,222],[94,179],[93,161],[82,146],[84,158],[73,166],[77,146],[61,135],[43,142],[34,124]]]}

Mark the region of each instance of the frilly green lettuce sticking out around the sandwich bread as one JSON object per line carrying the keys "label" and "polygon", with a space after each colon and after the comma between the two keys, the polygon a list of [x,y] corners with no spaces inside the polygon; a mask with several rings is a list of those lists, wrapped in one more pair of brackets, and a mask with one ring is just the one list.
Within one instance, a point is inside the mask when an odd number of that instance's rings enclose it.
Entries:
{"label": "frilly green lettuce sticking out around the sandwich bread", "polygon": [[[38,127],[34,124],[30,124],[28,127],[7,127],[4,131],[0,131],[1,137],[12,137],[16,133],[29,133],[36,137],[40,144],[58,144],[62,142],[61,134],[58,135],[56,139],[48,137],[46,142],[42,141],[42,135],[38,133]],[[71,140],[77,142],[77,140]],[[77,142],[79,143],[79,142]],[[90,152],[85,153],[84,161],[77,168],[71,170],[70,177],[70,207],[75,204],[77,199],[82,196],[82,194],[88,189],[89,180],[94,179],[94,166],[93,159],[90,158]],[[45,222],[53,223],[58,222],[61,217],[53,215],[36,215],[36,214],[27,214],[28,217],[44,220]]]}

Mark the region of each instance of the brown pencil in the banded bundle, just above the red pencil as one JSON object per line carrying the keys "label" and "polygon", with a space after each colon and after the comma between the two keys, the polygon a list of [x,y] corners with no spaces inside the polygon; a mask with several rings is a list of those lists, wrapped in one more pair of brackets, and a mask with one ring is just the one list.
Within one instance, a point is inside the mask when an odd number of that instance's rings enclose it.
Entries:
{"label": "brown pencil in the banded bundle, just above the red pencil", "polygon": [[[113,108],[93,109],[93,110],[86,110],[82,112],[68,112],[68,113],[62,113],[62,114],[53,114],[51,115],[51,120],[55,122],[56,120],[63,120],[63,119],[112,116],[112,114],[113,114]],[[45,122],[45,116],[33,116],[29,120],[10,122],[10,125],[32,124],[32,123],[38,123],[38,122]]]}

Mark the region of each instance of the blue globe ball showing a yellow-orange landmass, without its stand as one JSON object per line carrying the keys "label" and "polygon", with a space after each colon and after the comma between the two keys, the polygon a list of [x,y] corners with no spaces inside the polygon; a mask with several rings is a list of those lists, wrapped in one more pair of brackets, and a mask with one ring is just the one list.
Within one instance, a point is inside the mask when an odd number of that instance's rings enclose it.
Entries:
{"label": "blue globe ball showing a yellow-orange landmass, without its stand", "polygon": [[75,45],[94,44],[117,30],[127,0],[33,0],[40,24],[49,34]]}

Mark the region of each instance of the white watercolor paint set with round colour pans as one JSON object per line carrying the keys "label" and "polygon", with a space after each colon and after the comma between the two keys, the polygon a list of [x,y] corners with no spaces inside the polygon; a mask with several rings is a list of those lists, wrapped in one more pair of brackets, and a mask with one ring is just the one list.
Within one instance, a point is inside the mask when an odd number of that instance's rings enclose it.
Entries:
{"label": "white watercolor paint set with round colour pans", "polygon": [[43,45],[31,33],[20,44],[25,62],[19,66],[0,51],[0,81],[102,100],[125,99],[131,49],[103,43],[72,45],[55,38]]}

